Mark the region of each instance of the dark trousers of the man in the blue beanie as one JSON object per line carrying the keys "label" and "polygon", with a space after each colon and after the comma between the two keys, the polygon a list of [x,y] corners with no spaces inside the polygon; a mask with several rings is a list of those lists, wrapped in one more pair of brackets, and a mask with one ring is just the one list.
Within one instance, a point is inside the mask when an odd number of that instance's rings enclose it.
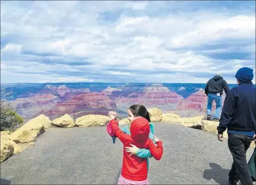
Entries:
{"label": "dark trousers of the man in the blue beanie", "polygon": [[238,182],[241,180],[242,184],[253,184],[250,175],[249,167],[246,160],[246,151],[250,147],[253,138],[242,134],[228,134],[228,148],[233,156],[233,164],[228,174],[231,181]]}

